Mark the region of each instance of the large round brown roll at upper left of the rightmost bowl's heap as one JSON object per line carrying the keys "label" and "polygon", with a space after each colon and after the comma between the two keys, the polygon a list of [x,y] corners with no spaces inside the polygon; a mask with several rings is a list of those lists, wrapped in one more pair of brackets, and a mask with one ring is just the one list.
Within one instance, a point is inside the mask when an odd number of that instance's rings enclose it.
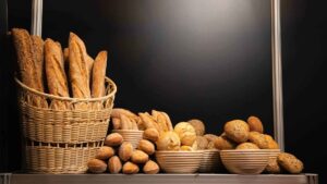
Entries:
{"label": "large round brown roll at upper left of the rightmost bowl's heap", "polygon": [[244,143],[249,139],[249,124],[242,120],[229,121],[225,124],[223,131],[228,138],[235,143]]}

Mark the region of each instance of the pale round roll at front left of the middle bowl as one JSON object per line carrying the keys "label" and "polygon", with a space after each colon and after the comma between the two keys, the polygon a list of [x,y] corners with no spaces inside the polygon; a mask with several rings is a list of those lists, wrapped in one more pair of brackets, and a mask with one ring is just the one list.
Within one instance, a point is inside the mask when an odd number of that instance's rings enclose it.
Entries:
{"label": "pale round roll at front left of the middle bowl", "polygon": [[180,150],[181,140],[174,132],[164,132],[157,140],[158,150]]}

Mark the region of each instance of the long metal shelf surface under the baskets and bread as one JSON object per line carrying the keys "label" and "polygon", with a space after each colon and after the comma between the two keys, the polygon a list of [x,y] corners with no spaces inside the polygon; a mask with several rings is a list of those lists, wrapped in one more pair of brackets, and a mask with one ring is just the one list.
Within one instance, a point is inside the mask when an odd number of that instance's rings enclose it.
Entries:
{"label": "long metal shelf surface under the baskets and bread", "polygon": [[317,174],[21,174],[0,173],[0,184],[318,184]]}

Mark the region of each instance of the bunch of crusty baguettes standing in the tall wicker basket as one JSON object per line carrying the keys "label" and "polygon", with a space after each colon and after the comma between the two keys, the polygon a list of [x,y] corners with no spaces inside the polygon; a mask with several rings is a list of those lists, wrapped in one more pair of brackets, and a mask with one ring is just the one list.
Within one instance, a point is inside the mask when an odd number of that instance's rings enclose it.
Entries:
{"label": "bunch of crusty baguettes standing in the tall wicker basket", "polygon": [[[59,97],[97,98],[105,96],[107,51],[100,51],[95,59],[89,57],[85,44],[70,33],[69,46],[62,49],[60,42],[38,36],[31,36],[26,29],[13,28],[13,44],[16,50],[21,81],[28,87]],[[65,101],[47,101],[32,97],[31,105],[39,108],[66,110],[72,107]],[[74,109],[101,108],[76,103]]]}

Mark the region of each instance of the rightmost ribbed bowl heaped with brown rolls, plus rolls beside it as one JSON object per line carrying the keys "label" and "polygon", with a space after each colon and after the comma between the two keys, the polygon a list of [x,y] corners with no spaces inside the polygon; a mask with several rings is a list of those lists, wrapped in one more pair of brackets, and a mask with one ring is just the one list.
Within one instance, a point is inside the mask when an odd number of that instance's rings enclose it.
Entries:
{"label": "rightmost ribbed bowl heaped with brown rolls, plus rolls beside it", "polygon": [[221,161],[231,173],[301,173],[303,170],[302,161],[281,152],[277,142],[264,133],[262,121],[254,115],[246,122],[227,122],[223,133],[215,140],[215,147],[220,150]]}

